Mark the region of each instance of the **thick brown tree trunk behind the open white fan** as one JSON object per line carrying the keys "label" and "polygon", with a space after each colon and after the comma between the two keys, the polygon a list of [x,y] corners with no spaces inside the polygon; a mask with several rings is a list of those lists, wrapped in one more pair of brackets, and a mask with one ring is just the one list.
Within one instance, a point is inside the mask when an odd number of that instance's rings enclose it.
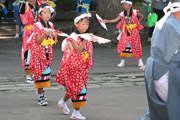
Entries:
{"label": "thick brown tree trunk behind the open white fan", "polygon": [[[120,0],[96,0],[96,2],[97,2],[96,12],[99,16],[101,16],[102,19],[107,19],[107,20],[114,19],[122,11]],[[118,42],[116,39],[118,36],[116,32],[117,24],[118,22],[106,24],[108,31],[103,29],[101,25],[97,24],[96,34],[104,38],[108,38],[113,42],[117,43]]]}

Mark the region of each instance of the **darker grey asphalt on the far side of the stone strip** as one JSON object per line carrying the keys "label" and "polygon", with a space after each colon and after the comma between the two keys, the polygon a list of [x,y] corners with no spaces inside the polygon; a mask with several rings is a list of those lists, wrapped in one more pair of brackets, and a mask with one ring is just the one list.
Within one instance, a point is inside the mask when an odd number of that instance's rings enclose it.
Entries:
{"label": "darker grey asphalt on the far side of the stone strip", "polygon": [[[21,39],[0,39],[0,76],[22,76],[24,70],[21,67]],[[143,60],[146,61],[149,56],[149,46],[143,47]],[[63,52],[60,49],[60,43],[54,47],[54,57],[52,61],[52,74],[56,75],[60,69],[60,62]],[[126,59],[125,68],[117,68],[120,57],[116,48],[94,48],[94,67],[90,68],[90,73],[124,73],[124,72],[142,72],[137,67],[138,62],[134,58]]]}

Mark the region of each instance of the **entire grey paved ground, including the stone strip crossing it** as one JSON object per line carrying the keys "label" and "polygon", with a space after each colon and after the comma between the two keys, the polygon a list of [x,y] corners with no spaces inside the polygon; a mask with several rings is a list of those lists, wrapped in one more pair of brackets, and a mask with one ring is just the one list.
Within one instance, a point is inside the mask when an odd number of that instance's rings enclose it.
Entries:
{"label": "entire grey paved ground, including the stone strip crossing it", "polygon": [[[49,105],[37,105],[33,84],[24,82],[21,67],[21,39],[12,38],[12,28],[0,31],[0,120],[69,120],[58,109],[62,87],[54,78],[60,69],[63,52],[60,43],[54,47],[52,86],[46,89]],[[6,37],[1,35],[6,33]],[[61,40],[62,38],[60,38]],[[143,60],[149,46],[143,46]],[[116,48],[94,48],[94,67],[90,68],[87,107],[82,114],[88,120],[140,120],[147,108],[143,72],[134,58],[126,60],[125,68],[117,68],[120,58]],[[71,102],[68,102],[71,106]],[[72,107],[71,111],[72,111]]]}

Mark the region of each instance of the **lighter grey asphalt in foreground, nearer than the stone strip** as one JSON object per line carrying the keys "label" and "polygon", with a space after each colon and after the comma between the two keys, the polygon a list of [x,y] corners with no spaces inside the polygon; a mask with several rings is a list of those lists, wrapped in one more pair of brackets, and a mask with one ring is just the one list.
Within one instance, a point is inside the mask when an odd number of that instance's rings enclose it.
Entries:
{"label": "lighter grey asphalt in foreground, nearer than the stone strip", "polygon": [[[69,120],[57,101],[62,90],[48,90],[48,106],[37,105],[35,91],[1,92],[1,120]],[[71,101],[68,101],[72,113]],[[88,89],[87,107],[81,113],[87,120],[140,120],[147,108],[144,86]]]}

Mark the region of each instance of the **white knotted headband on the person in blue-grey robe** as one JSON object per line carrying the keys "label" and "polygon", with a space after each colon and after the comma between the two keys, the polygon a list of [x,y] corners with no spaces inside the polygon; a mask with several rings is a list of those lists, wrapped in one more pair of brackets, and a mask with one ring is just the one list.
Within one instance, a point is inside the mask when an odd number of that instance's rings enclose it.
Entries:
{"label": "white knotted headband on the person in blue-grey robe", "polygon": [[169,17],[169,15],[171,13],[180,11],[180,3],[179,2],[175,2],[175,3],[169,2],[169,4],[163,9],[163,11],[164,11],[165,15],[156,23],[155,29],[156,28],[162,29],[164,22]]}

